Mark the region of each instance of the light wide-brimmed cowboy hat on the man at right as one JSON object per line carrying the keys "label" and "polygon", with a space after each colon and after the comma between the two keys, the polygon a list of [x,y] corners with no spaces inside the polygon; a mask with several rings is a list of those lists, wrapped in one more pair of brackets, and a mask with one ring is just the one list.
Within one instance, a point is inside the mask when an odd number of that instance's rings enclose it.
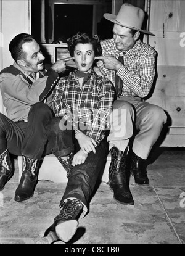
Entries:
{"label": "light wide-brimmed cowboy hat on the man at right", "polygon": [[121,6],[117,16],[104,14],[104,18],[122,27],[131,28],[132,30],[155,36],[151,32],[141,29],[144,15],[144,11],[141,8],[125,3]]}

